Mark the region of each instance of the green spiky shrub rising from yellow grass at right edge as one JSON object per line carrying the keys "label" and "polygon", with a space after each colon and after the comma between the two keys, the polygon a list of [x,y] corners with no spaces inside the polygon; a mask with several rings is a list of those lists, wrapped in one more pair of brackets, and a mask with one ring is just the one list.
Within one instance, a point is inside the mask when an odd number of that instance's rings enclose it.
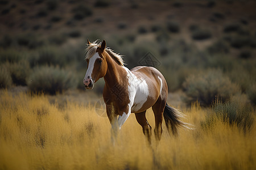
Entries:
{"label": "green spiky shrub rising from yellow grass at right edge", "polygon": [[236,125],[246,133],[251,130],[254,123],[253,108],[250,104],[239,100],[226,101],[225,103],[215,100],[206,120],[201,122],[201,127],[213,127],[216,121],[222,121],[230,126]]}

